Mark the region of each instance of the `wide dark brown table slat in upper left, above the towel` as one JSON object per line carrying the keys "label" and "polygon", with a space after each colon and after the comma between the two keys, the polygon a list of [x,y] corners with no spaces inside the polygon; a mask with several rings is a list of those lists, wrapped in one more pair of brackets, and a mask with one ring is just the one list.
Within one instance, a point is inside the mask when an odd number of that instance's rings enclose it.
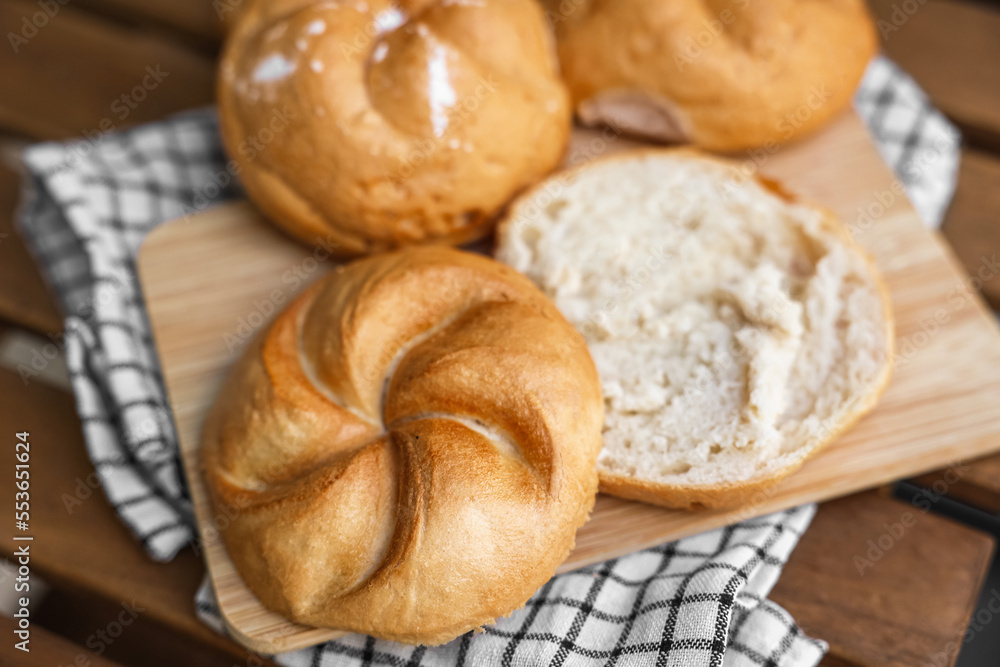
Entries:
{"label": "wide dark brown table slat in upper left, above the towel", "polygon": [[[20,34],[39,11],[29,0],[4,0],[2,33]],[[45,139],[94,137],[208,104],[213,78],[206,56],[61,5],[16,53],[9,43],[0,49],[0,126]]]}

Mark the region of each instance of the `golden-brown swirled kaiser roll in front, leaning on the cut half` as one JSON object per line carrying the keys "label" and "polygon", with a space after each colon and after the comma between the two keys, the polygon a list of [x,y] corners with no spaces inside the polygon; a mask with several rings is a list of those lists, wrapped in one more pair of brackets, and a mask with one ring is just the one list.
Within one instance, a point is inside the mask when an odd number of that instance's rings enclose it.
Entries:
{"label": "golden-brown swirled kaiser roll in front, leaning on the cut half", "polygon": [[321,279],[237,363],[203,433],[229,554],[269,608],[439,644],[523,605],[597,492],[582,337],[531,282],[411,248]]}

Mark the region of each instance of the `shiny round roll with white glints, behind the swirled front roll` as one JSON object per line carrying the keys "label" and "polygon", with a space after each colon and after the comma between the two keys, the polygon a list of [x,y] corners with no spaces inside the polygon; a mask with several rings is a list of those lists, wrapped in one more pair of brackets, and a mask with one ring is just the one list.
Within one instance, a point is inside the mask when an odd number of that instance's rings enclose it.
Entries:
{"label": "shiny round roll with white glints, behind the swirled front roll", "polygon": [[250,198],[342,255],[486,234],[571,125],[534,0],[258,0],[218,101]]}

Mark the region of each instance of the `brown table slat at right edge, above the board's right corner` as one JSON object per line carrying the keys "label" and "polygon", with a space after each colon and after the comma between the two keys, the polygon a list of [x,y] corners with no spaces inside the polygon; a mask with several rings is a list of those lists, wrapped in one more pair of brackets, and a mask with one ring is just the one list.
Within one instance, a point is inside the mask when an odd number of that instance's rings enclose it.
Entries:
{"label": "brown table slat at right edge, above the board's right corner", "polygon": [[958,187],[942,231],[975,276],[973,286],[981,285],[990,305],[1000,308],[1000,156],[962,151]]}

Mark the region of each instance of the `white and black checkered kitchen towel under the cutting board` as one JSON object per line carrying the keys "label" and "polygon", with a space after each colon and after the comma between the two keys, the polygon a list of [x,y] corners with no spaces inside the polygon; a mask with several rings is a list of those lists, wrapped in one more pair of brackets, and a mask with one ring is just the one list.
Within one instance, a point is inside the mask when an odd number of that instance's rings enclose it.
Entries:
{"label": "white and black checkered kitchen towel under the cutting board", "polygon": [[[885,59],[872,63],[856,106],[921,215],[938,224],[954,187],[957,132]],[[40,144],[24,160],[30,178],[20,225],[66,313],[67,365],[88,452],[122,520],[153,558],[168,560],[192,539],[194,519],[134,258],[161,222],[239,196],[215,115]],[[31,369],[23,370],[30,381]],[[510,618],[444,647],[349,637],[280,660],[815,664],[822,643],[766,599],[812,513],[782,512],[561,575]],[[218,622],[209,588],[198,607]]]}

